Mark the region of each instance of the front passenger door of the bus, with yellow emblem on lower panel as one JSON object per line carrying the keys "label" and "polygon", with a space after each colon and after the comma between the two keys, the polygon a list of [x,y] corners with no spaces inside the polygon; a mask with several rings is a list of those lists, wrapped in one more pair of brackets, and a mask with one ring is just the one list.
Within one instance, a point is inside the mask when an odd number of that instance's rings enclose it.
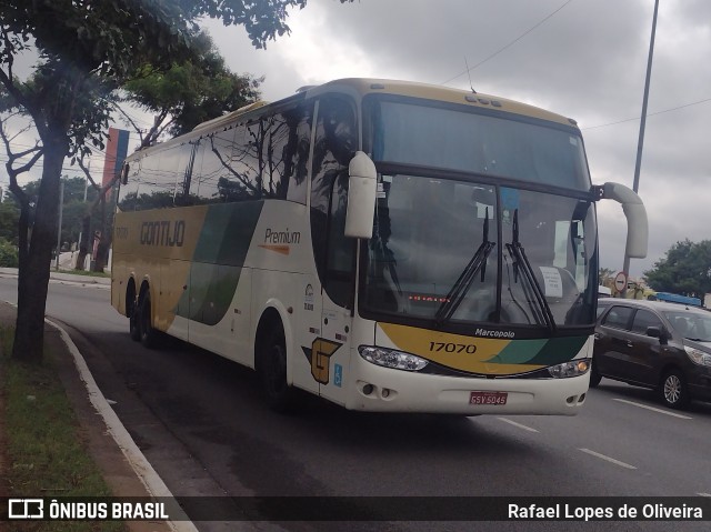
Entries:
{"label": "front passenger door of the bus, with yellow emblem on lower panel", "polygon": [[341,173],[333,184],[327,224],[326,265],[323,268],[320,394],[346,403],[346,378],[350,362],[350,335],[356,289],[357,240],[344,237],[348,175]]}

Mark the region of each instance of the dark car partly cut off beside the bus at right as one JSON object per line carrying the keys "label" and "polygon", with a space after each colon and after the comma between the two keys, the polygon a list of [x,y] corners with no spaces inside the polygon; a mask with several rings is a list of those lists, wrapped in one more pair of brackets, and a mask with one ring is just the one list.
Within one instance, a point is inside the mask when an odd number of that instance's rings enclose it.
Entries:
{"label": "dark car partly cut off beside the bus at right", "polygon": [[590,374],[653,389],[668,406],[711,400],[711,312],[677,303],[604,299]]}

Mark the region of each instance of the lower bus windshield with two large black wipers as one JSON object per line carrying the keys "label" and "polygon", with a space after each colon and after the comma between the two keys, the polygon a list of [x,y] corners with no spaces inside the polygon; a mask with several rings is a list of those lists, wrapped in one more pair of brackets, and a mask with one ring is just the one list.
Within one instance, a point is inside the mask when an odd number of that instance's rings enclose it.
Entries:
{"label": "lower bus windshield with two large black wipers", "polygon": [[593,323],[592,203],[475,180],[379,181],[364,311],[547,332]]}

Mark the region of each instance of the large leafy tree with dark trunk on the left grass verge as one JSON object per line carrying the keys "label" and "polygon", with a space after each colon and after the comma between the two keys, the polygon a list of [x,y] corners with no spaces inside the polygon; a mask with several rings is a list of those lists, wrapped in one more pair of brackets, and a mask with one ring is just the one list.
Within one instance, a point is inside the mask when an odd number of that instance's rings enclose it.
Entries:
{"label": "large leafy tree with dark trunk on the left grass verge", "polygon": [[[343,1],[343,0],[341,0]],[[67,158],[89,144],[103,148],[111,94],[141,66],[167,71],[198,54],[191,34],[200,17],[243,24],[257,47],[289,31],[287,8],[306,0],[11,0],[0,3],[0,112],[27,116],[36,147],[12,151],[4,133],[10,189],[21,204],[19,219],[18,318],[12,355],[42,360],[44,308],[51,250],[57,235],[59,188]],[[34,50],[32,74],[16,76],[16,60]],[[18,175],[42,159],[36,215],[29,232],[30,200]]]}

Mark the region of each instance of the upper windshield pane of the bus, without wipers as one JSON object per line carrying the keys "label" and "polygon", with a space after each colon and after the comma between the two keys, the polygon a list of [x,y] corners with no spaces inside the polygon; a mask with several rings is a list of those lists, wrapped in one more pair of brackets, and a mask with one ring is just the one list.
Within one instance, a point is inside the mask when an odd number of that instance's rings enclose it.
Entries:
{"label": "upper windshield pane of the bus, without wipers", "polygon": [[582,138],[573,128],[500,111],[424,106],[384,96],[371,97],[365,110],[375,162],[407,162],[585,192],[590,189]]}

